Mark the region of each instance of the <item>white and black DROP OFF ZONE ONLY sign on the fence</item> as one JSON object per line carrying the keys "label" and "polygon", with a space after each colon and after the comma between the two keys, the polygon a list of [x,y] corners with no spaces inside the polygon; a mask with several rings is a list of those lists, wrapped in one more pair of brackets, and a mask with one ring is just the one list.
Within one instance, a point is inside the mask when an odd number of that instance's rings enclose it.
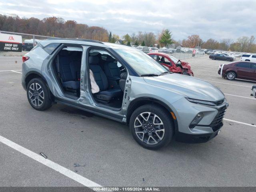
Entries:
{"label": "white and black DROP OFF ZONE ONLY sign on the fence", "polygon": [[22,37],[0,33],[0,51],[22,52]]}

